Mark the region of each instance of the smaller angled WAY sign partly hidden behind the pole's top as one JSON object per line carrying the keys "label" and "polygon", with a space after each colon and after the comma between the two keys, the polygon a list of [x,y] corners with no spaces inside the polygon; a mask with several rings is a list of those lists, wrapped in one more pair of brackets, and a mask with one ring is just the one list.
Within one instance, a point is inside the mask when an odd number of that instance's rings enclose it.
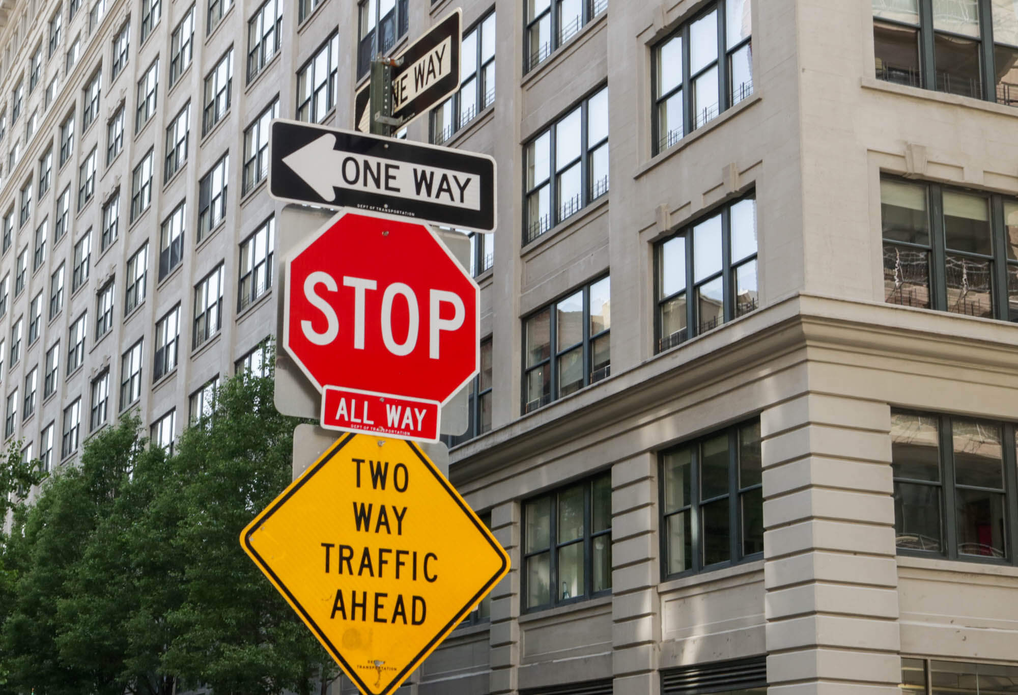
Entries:
{"label": "smaller angled WAY sign partly hidden behind the pole's top", "polygon": [[[395,56],[401,63],[392,70],[393,118],[408,123],[459,89],[462,16],[457,8]],[[354,98],[354,123],[362,132],[370,130],[369,92],[364,85]]]}

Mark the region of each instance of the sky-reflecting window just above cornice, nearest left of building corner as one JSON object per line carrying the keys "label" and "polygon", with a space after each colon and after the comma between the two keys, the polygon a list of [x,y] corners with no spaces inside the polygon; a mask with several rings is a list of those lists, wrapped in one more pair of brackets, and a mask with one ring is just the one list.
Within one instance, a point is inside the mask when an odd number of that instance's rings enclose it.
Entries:
{"label": "sky-reflecting window just above cornice, nearest left of building corner", "polygon": [[657,352],[748,314],[758,302],[756,200],[680,229],[658,245],[655,261]]}

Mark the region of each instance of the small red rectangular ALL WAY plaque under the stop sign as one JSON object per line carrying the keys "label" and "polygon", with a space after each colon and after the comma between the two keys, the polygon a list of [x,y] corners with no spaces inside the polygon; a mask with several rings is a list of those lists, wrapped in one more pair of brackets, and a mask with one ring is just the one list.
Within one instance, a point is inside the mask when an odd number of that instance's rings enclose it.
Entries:
{"label": "small red rectangular ALL WAY plaque under the stop sign", "polygon": [[347,432],[438,441],[439,414],[437,400],[335,386],[326,386],[322,395],[322,426]]}

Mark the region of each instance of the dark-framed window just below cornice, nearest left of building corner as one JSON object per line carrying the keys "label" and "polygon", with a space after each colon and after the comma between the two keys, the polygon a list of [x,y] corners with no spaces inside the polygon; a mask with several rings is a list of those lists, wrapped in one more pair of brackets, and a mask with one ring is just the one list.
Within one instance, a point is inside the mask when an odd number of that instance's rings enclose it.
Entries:
{"label": "dark-framed window just below cornice, nearest left of building corner", "polygon": [[758,420],[661,455],[662,577],[764,552],[761,475]]}

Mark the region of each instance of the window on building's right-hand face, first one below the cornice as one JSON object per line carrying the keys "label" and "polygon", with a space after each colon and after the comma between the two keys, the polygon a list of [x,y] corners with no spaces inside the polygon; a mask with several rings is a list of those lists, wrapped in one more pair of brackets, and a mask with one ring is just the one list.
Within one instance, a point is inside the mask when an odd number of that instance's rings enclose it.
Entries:
{"label": "window on building's right-hand face, first one below the cornice", "polygon": [[899,552],[1014,564],[1011,423],[891,412],[895,530]]}

